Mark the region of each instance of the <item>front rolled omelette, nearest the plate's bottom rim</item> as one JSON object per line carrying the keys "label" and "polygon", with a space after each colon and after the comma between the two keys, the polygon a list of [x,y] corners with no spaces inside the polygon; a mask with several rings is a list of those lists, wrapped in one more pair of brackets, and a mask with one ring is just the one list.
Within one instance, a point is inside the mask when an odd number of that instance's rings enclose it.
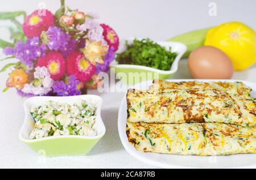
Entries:
{"label": "front rolled omelette, nearest the plate's bottom rim", "polygon": [[131,123],[129,143],[137,151],[175,155],[232,155],[255,153],[256,128],[224,123]]}

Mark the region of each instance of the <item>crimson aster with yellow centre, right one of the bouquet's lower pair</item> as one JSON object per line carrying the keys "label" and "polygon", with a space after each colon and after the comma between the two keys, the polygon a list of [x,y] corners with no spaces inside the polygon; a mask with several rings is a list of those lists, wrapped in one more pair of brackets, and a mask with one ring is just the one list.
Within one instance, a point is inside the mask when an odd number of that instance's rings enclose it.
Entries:
{"label": "crimson aster with yellow centre, right one of the bouquet's lower pair", "polygon": [[75,75],[81,82],[88,82],[96,70],[95,66],[79,51],[69,54],[66,62],[68,75]]}

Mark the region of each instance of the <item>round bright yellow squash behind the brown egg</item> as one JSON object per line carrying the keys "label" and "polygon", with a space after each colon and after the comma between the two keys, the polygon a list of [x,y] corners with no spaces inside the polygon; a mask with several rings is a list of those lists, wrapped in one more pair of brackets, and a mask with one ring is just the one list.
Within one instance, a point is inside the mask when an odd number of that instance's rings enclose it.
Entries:
{"label": "round bright yellow squash behind the brown egg", "polygon": [[245,70],[256,61],[256,33],[240,22],[224,23],[210,29],[204,45],[214,46],[225,52],[234,70]]}

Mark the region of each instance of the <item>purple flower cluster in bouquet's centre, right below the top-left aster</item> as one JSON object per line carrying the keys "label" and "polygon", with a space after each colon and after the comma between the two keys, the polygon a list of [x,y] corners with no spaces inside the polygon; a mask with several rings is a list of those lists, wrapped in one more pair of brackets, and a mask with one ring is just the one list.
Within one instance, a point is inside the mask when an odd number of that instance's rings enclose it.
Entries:
{"label": "purple flower cluster in bouquet's centre, right below the top-left aster", "polygon": [[67,57],[76,49],[76,40],[72,40],[68,33],[59,27],[49,27],[46,32],[42,33],[41,39],[49,50],[60,51],[63,57]]}

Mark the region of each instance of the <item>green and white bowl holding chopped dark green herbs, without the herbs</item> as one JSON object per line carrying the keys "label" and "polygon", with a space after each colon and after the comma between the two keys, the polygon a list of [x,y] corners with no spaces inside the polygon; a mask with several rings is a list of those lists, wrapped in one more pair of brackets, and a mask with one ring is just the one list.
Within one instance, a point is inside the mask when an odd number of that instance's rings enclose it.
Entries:
{"label": "green and white bowl holding chopped dark green herbs, without the herbs", "polygon": [[[133,43],[134,38],[130,38],[128,44]],[[172,63],[170,71],[158,70],[156,68],[138,66],[138,65],[118,65],[114,61],[110,65],[110,70],[114,71],[115,75],[125,84],[134,85],[146,80],[153,79],[169,79],[178,69],[178,63],[182,55],[187,51],[187,46],[180,42],[162,42],[156,41],[157,44],[168,50],[170,47],[172,52],[177,52],[177,57]],[[125,41],[121,41],[117,53],[122,53],[126,50]]]}

